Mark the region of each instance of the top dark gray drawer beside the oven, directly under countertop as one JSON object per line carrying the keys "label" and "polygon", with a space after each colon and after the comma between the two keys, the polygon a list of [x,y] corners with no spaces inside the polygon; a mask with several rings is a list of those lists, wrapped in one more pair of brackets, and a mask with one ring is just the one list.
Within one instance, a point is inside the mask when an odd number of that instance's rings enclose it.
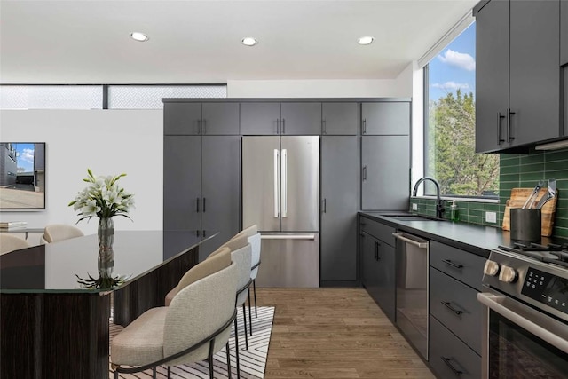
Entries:
{"label": "top dark gray drawer beside the oven, directly under countertop", "polygon": [[481,290],[484,257],[437,241],[430,241],[430,265],[470,287]]}

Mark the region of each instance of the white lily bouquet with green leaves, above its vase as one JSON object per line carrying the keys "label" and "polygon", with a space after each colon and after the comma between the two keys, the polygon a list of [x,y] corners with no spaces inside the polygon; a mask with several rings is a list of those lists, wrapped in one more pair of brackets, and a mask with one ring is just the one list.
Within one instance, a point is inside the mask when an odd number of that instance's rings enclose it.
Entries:
{"label": "white lily bouquet with green leaves, above its vase", "polygon": [[89,183],[89,186],[78,192],[74,201],[69,202],[69,207],[73,206],[73,210],[79,212],[77,214],[81,217],[79,221],[92,217],[123,216],[130,218],[128,212],[134,209],[134,195],[124,191],[124,188],[117,183],[126,174],[96,177],[91,169],[87,169],[87,173],[89,176],[83,181]]}

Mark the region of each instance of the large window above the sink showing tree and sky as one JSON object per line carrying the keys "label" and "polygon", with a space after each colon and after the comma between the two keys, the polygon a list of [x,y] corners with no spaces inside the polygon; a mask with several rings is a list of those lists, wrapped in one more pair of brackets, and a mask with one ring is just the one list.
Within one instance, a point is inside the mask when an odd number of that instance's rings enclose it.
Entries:
{"label": "large window above the sink showing tree and sky", "polygon": [[[499,155],[475,153],[475,23],[424,69],[424,172],[448,196],[495,197]],[[425,194],[433,194],[427,186]]]}

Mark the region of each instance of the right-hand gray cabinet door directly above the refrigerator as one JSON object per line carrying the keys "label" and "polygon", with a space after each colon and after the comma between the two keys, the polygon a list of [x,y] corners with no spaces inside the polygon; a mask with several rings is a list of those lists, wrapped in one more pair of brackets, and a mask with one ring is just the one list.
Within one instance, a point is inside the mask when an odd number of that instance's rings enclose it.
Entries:
{"label": "right-hand gray cabinet door directly above the refrigerator", "polygon": [[321,103],[281,103],[280,134],[321,134]]}

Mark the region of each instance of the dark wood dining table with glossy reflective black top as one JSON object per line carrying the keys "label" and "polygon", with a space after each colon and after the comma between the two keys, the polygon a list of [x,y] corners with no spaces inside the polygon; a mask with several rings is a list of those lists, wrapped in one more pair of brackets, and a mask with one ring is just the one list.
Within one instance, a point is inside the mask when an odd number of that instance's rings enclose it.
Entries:
{"label": "dark wood dining table with glossy reflective black top", "polygon": [[216,235],[117,231],[105,254],[92,234],[0,255],[0,377],[108,378],[109,321],[163,306]]}

